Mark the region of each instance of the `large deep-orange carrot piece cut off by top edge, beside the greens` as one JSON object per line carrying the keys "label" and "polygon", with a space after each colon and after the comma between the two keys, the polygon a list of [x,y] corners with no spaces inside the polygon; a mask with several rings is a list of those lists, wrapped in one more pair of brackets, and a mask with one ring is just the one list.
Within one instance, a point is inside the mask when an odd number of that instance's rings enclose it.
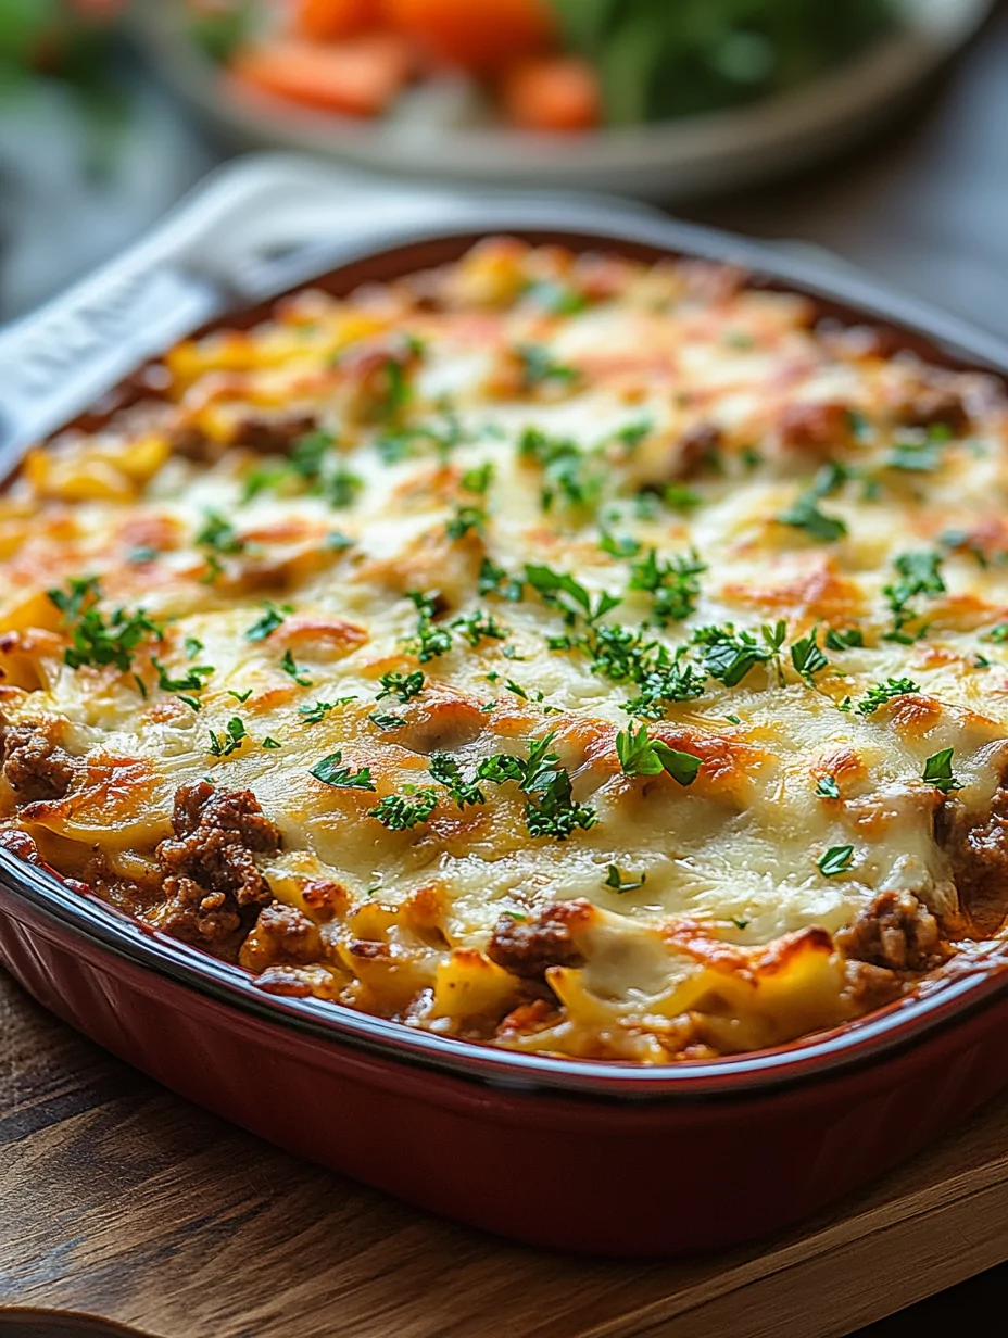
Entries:
{"label": "large deep-orange carrot piece cut off by top edge, beside the greens", "polygon": [[478,72],[548,51],[557,35],[548,0],[387,0],[387,13],[439,60]]}

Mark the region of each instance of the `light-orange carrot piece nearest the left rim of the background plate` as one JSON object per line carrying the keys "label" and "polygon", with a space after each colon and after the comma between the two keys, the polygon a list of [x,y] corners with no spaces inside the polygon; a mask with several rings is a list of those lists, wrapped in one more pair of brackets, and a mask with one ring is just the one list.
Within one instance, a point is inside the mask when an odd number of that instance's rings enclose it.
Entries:
{"label": "light-orange carrot piece nearest the left rim of the background plate", "polygon": [[410,74],[410,48],[394,33],[328,45],[289,39],[246,47],[229,71],[238,87],[351,116],[380,115]]}

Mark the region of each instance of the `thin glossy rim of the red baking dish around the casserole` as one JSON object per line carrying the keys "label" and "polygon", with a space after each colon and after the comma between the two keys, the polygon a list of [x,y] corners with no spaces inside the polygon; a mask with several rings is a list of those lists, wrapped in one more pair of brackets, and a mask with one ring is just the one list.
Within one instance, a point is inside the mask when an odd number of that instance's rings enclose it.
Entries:
{"label": "thin glossy rim of the red baking dish around the casserole", "polygon": [[[345,282],[343,290],[351,292],[361,282],[382,281],[383,274],[387,278],[403,276],[438,262],[410,260],[418,249],[462,254],[479,238],[499,233],[582,250],[605,246],[631,256],[647,257],[651,252],[652,256],[740,264],[754,286],[810,296],[825,314],[893,332],[904,348],[924,351],[924,356],[938,363],[1008,379],[1007,344],[956,317],[888,292],[881,282],[857,270],[834,269],[775,252],[767,244],[675,219],[614,219],[596,209],[593,222],[592,205],[581,210],[553,205],[509,211],[506,202],[501,202],[489,205],[482,217],[467,214],[456,223],[399,229],[372,237],[351,254],[344,248],[336,265],[319,252],[312,252],[308,261],[296,256],[282,276],[282,286],[265,302],[245,302],[214,317],[205,328],[249,324],[278,297],[307,284],[332,284],[339,289]],[[360,269],[365,272],[363,276],[357,274]],[[142,364],[143,360],[138,363]],[[290,1029],[303,1038],[365,1050],[392,1062],[498,1089],[594,1101],[680,1105],[807,1085],[904,1053],[1008,994],[1008,942],[1001,942],[957,967],[953,959],[949,974],[865,1018],[771,1050],[653,1066],[570,1060],[440,1037],[332,1001],[266,993],[241,967],[143,926],[96,896],[71,890],[46,866],[28,864],[0,848],[0,894],[4,891],[40,914],[50,926],[70,930],[119,961],[236,1008],[246,1017]],[[3,904],[1,895],[0,913],[20,919],[16,910],[8,911]]]}

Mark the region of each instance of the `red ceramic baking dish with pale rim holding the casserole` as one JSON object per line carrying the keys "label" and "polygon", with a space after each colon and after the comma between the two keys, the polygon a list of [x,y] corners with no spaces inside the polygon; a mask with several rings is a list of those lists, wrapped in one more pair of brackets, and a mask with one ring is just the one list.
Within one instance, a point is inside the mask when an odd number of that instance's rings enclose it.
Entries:
{"label": "red ceramic baking dish with pale rim holding the casserole", "polygon": [[[282,194],[289,177],[278,171],[277,185],[276,162],[256,171],[260,203],[264,181]],[[249,169],[241,173],[245,194],[237,190],[237,198],[248,206]],[[225,185],[233,205],[236,182]],[[313,189],[319,195],[332,187]],[[220,185],[214,190],[217,206]],[[995,340],[771,249],[592,205],[438,207],[440,221],[386,217],[367,244],[344,237],[336,269],[301,253],[277,268],[260,253],[265,269],[256,282],[230,285],[246,310],[228,320],[254,320],[249,298],[284,286],[282,273],[341,293],[452,260],[479,235],[505,230],[636,257],[738,261],[754,282],[813,296],[825,316],[884,328],[893,349],[1008,371],[1008,349]],[[159,310],[167,324],[153,322],[166,340],[222,305],[220,276],[195,264],[201,237],[220,231],[221,217],[206,198],[197,201],[157,246],[133,253],[126,270],[114,266],[86,286],[87,310],[80,292],[71,294],[68,305],[23,326],[19,345],[44,347],[54,318],[80,321],[82,310],[94,329],[94,313],[104,312],[74,369],[84,387],[90,377],[98,397],[110,368],[122,371],[154,351],[150,318],[146,343],[134,339],[151,284],[174,294]],[[131,273],[131,286],[123,273]],[[115,301],[102,306],[102,292]],[[179,310],[181,293],[189,301]],[[28,431],[19,405],[33,405],[37,428],[55,427],[71,403],[66,376],[50,375],[47,388],[44,360],[36,357],[35,371],[33,396],[23,372],[8,395],[12,451]],[[54,408],[54,387],[62,388],[62,408]],[[122,393],[106,396],[100,412]],[[1008,1084],[1008,955],[997,950],[834,1033],[669,1068],[513,1054],[317,999],[268,995],[238,967],[153,933],[5,851],[0,958],[64,1021],[273,1143],[474,1226],[605,1255],[709,1248],[780,1227],[912,1157]]]}

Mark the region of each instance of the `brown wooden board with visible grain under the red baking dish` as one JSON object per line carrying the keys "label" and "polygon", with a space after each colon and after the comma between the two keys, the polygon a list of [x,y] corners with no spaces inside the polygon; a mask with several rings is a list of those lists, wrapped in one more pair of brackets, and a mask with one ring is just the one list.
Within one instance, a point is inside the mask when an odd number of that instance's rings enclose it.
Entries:
{"label": "brown wooden board with visible grain under the red baking dish", "polygon": [[0,973],[8,1307],[158,1338],[835,1338],[1005,1258],[1008,1098],[799,1230],[675,1263],[580,1260],[286,1156]]}

